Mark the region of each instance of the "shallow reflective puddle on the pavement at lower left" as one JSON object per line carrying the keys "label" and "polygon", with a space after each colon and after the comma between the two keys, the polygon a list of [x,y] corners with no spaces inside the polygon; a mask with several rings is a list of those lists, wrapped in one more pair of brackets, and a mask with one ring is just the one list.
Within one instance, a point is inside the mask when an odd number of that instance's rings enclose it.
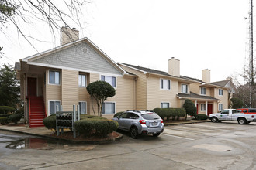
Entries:
{"label": "shallow reflective puddle on the pavement at lower left", "polygon": [[96,146],[97,145],[61,143],[59,141],[51,141],[43,138],[22,138],[17,141],[11,141],[6,148],[38,150],[67,149],[73,151],[88,151],[94,149]]}

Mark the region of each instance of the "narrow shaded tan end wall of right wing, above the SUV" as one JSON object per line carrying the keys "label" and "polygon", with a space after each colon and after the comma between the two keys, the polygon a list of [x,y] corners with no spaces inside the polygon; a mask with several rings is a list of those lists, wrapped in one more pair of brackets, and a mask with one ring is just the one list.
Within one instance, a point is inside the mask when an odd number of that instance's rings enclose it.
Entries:
{"label": "narrow shaded tan end wall of right wing, above the SUV", "polygon": [[[130,69],[127,66],[121,65],[127,72],[138,76],[136,80],[136,110],[145,110],[147,108],[147,77],[143,72]],[[160,87],[159,87],[160,88]],[[158,88],[158,89],[159,89]]]}

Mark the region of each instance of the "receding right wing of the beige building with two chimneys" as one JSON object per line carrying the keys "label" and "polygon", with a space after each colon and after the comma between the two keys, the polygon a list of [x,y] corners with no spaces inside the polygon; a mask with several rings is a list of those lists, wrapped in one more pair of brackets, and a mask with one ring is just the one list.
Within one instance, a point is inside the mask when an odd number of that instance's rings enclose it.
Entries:
{"label": "receding right wing of the beige building with two chimneys", "polygon": [[192,100],[198,114],[212,114],[228,107],[227,90],[210,83],[210,70],[202,70],[202,80],[180,75],[180,61],[168,61],[168,73],[142,66],[119,63],[136,80],[137,109],[183,107],[185,99]]}

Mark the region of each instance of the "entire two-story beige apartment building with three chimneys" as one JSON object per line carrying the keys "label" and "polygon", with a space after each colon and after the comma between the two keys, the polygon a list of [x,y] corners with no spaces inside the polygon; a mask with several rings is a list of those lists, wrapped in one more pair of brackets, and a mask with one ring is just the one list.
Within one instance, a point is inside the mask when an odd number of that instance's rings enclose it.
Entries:
{"label": "entire two-story beige apartment building with three chimneys", "polygon": [[[182,107],[192,100],[198,113],[210,114],[228,107],[228,90],[210,83],[210,71],[202,80],[180,75],[180,61],[168,61],[168,73],[141,66],[115,63],[88,38],[78,39],[76,29],[61,29],[61,46],[20,59],[16,63],[25,119],[30,127],[43,126],[43,118],[79,105],[81,114],[93,114],[86,86],[104,80],[116,96],[104,103],[102,116],[111,118],[124,110]],[[96,104],[94,102],[95,112]]]}

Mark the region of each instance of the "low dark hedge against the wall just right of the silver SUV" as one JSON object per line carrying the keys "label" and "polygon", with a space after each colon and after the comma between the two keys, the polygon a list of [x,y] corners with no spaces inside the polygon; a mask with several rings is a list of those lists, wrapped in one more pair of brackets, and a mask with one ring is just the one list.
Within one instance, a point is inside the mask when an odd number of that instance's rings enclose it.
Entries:
{"label": "low dark hedge against the wall just right of the silver SUV", "polygon": [[175,118],[178,120],[180,117],[185,117],[184,108],[154,108],[153,111],[157,113],[163,120],[169,120],[170,117],[172,120]]}

